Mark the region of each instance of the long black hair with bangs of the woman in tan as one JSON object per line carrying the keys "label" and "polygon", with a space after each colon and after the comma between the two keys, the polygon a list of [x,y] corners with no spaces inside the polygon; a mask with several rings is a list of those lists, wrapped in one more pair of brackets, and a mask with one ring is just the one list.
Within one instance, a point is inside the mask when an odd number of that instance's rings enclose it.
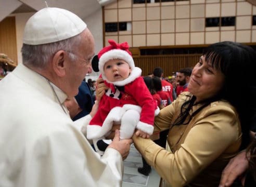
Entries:
{"label": "long black hair with bangs of the woman in tan", "polygon": [[207,47],[202,54],[206,62],[220,70],[225,76],[225,82],[220,92],[213,98],[201,101],[203,105],[186,121],[188,112],[195,104],[196,97],[182,105],[181,114],[173,125],[188,124],[193,116],[213,101],[226,100],[231,103],[239,114],[242,128],[241,149],[250,142],[249,130],[253,115],[256,113],[256,62],[255,51],[235,42],[220,42]]}

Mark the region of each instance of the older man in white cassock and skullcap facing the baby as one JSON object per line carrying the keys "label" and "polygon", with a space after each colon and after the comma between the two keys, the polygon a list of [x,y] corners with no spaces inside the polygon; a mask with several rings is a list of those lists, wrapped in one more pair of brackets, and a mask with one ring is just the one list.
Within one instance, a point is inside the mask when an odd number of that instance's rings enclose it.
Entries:
{"label": "older man in white cassock and skullcap facing the baby", "polygon": [[27,21],[23,63],[0,82],[0,186],[121,186],[132,140],[117,130],[100,157],[81,132],[84,120],[74,123],[64,105],[78,94],[94,46],[68,10],[47,7]]}

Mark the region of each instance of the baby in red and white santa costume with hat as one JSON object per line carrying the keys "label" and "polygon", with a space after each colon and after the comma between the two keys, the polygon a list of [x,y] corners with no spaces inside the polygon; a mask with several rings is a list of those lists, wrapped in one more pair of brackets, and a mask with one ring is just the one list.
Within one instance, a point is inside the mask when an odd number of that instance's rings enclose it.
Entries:
{"label": "baby in red and white santa costume with hat", "polygon": [[127,42],[108,42],[110,45],[98,53],[98,68],[109,89],[101,98],[99,109],[87,125],[86,133],[99,153],[104,150],[98,150],[97,142],[105,139],[112,125],[121,124],[120,139],[131,138],[135,128],[142,131],[141,136],[151,135],[154,117],[159,113],[140,76],[142,70],[134,65]]}

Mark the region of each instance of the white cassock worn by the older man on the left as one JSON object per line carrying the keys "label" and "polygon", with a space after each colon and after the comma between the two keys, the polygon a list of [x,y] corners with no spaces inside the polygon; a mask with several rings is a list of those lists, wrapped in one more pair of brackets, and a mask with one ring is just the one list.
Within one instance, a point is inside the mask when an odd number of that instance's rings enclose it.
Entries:
{"label": "white cassock worn by the older man on the left", "polygon": [[[54,89],[63,103],[67,95]],[[0,81],[0,186],[121,186],[120,153],[100,157],[81,126],[46,79],[19,64]]]}

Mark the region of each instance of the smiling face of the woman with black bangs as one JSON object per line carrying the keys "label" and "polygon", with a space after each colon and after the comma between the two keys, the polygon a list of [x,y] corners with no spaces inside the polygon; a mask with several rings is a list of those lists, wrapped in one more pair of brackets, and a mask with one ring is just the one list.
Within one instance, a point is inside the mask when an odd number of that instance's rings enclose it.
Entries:
{"label": "smiling face of the woman with black bangs", "polygon": [[188,91],[196,96],[196,102],[214,97],[222,89],[225,76],[201,56],[190,76]]}

